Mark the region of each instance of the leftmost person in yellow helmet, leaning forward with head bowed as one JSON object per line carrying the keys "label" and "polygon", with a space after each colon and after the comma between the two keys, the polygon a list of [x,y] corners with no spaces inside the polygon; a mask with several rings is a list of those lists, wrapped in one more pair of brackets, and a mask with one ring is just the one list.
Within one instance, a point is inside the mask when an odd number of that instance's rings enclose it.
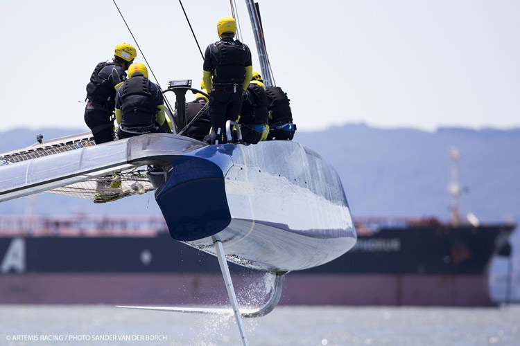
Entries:
{"label": "leftmost person in yellow helmet, leaning forward with head bowed", "polygon": [[112,62],[100,62],[90,77],[84,118],[96,144],[114,140],[113,113],[116,91],[125,82],[125,71],[136,56],[134,46],[120,43],[114,49]]}

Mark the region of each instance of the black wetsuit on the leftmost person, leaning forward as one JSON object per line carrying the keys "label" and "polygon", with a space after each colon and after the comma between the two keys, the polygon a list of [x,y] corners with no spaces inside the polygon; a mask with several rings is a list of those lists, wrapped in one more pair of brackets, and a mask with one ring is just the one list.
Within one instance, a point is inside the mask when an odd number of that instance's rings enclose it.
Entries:
{"label": "black wetsuit on the leftmost person, leaning forward", "polygon": [[[105,64],[101,66],[100,64]],[[100,67],[101,69],[98,69]],[[96,73],[96,70],[97,73]],[[94,75],[96,73],[96,75]],[[96,144],[114,140],[114,102],[116,86],[126,80],[126,72],[115,62],[99,63],[94,69],[91,82],[87,84],[87,107],[85,107],[85,123],[91,129]],[[96,85],[93,80],[101,82]]]}

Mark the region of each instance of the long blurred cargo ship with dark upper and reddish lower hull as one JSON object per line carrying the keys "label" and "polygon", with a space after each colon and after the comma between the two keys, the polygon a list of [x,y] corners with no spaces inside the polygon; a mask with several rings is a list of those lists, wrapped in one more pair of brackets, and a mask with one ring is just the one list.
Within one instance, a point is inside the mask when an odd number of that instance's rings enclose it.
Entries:
{"label": "long blurred cargo ship with dark upper and reddish lower hull", "polygon": [[[489,297],[489,264],[510,255],[513,224],[354,221],[356,246],[322,266],[288,273],[279,304],[496,304]],[[243,303],[262,299],[265,273],[234,264],[230,269]],[[3,216],[0,271],[2,304],[202,305],[227,299],[216,258],[171,239],[162,215]]]}

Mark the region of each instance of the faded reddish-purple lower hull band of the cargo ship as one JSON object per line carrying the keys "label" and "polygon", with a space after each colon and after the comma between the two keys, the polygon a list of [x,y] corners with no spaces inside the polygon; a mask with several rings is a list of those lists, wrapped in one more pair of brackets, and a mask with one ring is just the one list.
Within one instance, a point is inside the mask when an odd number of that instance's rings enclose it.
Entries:
{"label": "faded reddish-purple lower hull band of the cargo ship", "polygon": [[[234,275],[239,300],[260,279]],[[218,273],[24,273],[1,275],[1,304],[226,304]],[[487,275],[345,275],[291,273],[281,305],[487,307]]]}

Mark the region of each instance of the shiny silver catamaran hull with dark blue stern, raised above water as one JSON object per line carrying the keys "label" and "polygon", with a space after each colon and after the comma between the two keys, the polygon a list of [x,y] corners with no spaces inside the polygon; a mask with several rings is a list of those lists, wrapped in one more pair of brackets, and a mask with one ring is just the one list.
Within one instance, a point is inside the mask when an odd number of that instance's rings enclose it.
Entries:
{"label": "shiny silver catamaran hull with dark blue stern, raised above water", "polygon": [[156,200],[174,239],[263,271],[329,262],[356,242],[338,174],[290,141],[211,145],[171,161]]}

